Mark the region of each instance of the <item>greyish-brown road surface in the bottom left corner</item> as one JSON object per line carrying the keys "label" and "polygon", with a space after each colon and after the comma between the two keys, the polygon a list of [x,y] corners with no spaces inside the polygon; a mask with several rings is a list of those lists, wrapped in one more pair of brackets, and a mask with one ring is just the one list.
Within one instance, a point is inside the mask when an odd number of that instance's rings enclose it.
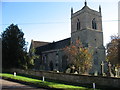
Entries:
{"label": "greyish-brown road surface in the bottom left corner", "polygon": [[[41,89],[41,88],[36,88],[12,81],[7,81],[0,79],[0,82],[2,83],[2,90],[47,90],[47,89]],[[0,85],[1,86],[1,85]],[[1,90],[1,87],[0,87]]]}

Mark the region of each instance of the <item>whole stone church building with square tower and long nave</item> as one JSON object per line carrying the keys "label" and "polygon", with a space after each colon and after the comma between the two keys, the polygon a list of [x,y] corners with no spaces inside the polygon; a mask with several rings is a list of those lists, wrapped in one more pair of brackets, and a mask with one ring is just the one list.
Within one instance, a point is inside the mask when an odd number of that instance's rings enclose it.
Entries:
{"label": "whole stone church building with square tower and long nave", "polygon": [[101,62],[105,62],[105,48],[103,46],[102,14],[90,9],[85,2],[84,7],[73,12],[71,8],[71,37],[57,42],[31,42],[30,49],[34,47],[40,59],[35,60],[35,69],[65,71],[68,57],[63,48],[80,40],[85,47],[93,47],[93,66],[91,73],[101,73]]}

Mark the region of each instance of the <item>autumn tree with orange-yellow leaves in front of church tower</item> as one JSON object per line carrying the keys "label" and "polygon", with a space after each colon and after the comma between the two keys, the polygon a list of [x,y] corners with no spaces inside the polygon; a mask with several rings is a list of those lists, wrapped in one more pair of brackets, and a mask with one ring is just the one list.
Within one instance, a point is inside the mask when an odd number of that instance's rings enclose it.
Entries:
{"label": "autumn tree with orange-yellow leaves in front of church tower", "polygon": [[70,45],[64,50],[68,55],[70,64],[74,65],[78,71],[88,73],[92,67],[92,53],[90,52],[90,48],[83,47],[80,40],[77,40],[75,45]]}

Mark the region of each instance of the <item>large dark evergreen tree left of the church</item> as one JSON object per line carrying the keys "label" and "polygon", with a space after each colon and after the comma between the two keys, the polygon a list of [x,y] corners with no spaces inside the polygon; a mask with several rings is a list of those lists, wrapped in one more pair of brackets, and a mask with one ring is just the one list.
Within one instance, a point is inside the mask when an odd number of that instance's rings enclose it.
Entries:
{"label": "large dark evergreen tree left of the church", "polygon": [[17,25],[11,24],[1,37],[3,68],[23,68],[26,65],[24,33]]}

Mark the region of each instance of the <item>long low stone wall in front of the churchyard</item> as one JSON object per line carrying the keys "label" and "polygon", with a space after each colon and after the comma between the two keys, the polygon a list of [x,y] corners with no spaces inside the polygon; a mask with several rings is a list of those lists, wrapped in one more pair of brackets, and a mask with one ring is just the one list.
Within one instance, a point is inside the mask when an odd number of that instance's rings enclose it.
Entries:
{"label": "long low stone wall in front of the churchyard", "polygon": [[72,82],[77,84],[89,84],[96,83],[98,86],[120,88],[120,78],[115,77],[102,77],[102,76],[86,76],[78,74],[66,74],[57,72],[46,72],[46,71],[34,71],[34,70],[20,70],[11,69],[10,72],[17,72],[20,74],[34,75],[38,77],[45,77],[47,79]]}

